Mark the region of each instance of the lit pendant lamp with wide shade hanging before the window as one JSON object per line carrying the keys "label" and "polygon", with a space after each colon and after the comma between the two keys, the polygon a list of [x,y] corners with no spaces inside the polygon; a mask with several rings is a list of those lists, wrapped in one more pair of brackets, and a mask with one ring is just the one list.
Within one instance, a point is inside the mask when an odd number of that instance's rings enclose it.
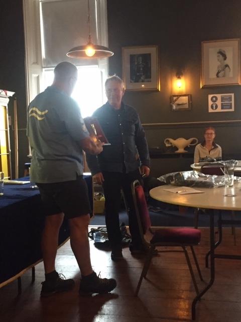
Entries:
{"label": "lit pendant lamp with wide shade hanging before the window", "polygon": [[88,0],[88,29],[89,29],[89,40],[86,45],[77,46],[67,52],[67,56],[71,58],[87,58],[87,59],[97,59],[106,58],[112,56],[114,53],[107,47],[94,45],[91,41],[90,34],[90,14],[89,14],[89,0]]}

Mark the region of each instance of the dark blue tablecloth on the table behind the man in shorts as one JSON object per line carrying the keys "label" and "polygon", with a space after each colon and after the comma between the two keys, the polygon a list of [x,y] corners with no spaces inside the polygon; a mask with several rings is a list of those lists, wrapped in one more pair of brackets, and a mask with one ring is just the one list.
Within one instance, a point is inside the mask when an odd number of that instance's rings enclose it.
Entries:
{"label": "dark blue tablecloth on the table behind the man in shorts", "polygon": [[[84,176],[92,201],[91,176]],[[29,180],[29,177],[19,180]],[[44,210],[38,189],[30,184],[5,184],[0,196],[0,284],[42,259],[41,235]],[[59,244],[68,238],[65,219],[59,234]]]}

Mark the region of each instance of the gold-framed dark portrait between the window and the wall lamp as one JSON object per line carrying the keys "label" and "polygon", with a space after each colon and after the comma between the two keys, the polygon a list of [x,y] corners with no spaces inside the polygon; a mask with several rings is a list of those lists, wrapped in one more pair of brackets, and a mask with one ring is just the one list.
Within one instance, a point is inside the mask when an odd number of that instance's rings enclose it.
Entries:
{"label": "gold-framed dark portrait between the window and the wall lamp", "polygon": [[126,91],[160,91],[158,46],[123,47],[122,57]]}

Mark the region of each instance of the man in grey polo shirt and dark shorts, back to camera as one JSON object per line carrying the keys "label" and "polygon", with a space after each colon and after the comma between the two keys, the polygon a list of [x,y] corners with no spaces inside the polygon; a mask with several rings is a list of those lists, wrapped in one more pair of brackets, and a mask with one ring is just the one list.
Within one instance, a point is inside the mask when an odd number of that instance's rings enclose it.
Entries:
{"label": "man in grey polo shirt and dark shorts, back to camera", "polygon": [[40,189],[46,209],[42,252],[45,281],[41,296],[73,288],[73,279],[63,279],[55,270],[59,229],[64,215],[69,219],[70,244],[81,271],[79,293],[106,293],[114,279],[101,279],[92,270],[89,254],[89,200],[83,179],[82,150],[102,151],[84,125],[77,103],[70,97],[77,68],[62,62],[54,69],[54,82],[30,103],[27,136],[32,149],[31,180]]}

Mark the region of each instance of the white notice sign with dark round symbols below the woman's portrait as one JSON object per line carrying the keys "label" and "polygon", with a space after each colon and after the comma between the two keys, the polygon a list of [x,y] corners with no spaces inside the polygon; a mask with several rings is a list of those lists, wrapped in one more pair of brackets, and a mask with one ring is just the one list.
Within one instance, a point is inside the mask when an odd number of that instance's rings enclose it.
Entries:
{"label": "white notice sign with dark round symbols below the woman's portrait", "polygon": [[208,95],[208,112],[233,112],[234,94]]}

